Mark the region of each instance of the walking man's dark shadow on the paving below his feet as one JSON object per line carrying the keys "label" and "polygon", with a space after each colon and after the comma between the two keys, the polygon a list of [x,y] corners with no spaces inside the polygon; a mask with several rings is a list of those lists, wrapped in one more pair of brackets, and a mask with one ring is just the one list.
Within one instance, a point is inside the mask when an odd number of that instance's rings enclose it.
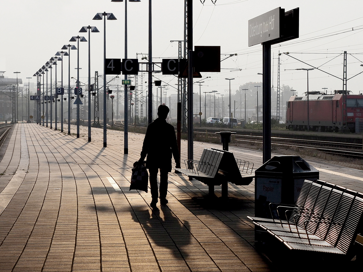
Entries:
{"label": "walking man's dark shadow on the paving below his feet", "polygon": [[[130,213],[132,219],[142,226],[150,242],[156,245],[156,254],[173,254],[179,260],[188,257],[191,244],[188,221],[182,223],[167,206],[161,206],[161,211],[158,208],[150,211],[136,207]],[[169,252],[158,247],[167,248]]]}

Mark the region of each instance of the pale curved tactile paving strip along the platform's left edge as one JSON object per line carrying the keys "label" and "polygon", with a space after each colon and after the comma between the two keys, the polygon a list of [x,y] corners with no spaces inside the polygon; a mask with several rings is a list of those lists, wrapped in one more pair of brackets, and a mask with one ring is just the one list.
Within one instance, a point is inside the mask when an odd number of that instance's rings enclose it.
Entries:
{"label": "pale curved tactile paving strip along the platform's left edge", "polygon": [[21,127],[21,137],[20,137],[20,161],[19,166],[9,181],[8,185],[0,193],[0,214],[5,210],[5,208],[10,203],[11,199],[15,195],[16,191],[19,189],[21,183],[25,178],[26,172],[28,172],[29,167],[29,152],[28,145],[25,139],[24,126]]}

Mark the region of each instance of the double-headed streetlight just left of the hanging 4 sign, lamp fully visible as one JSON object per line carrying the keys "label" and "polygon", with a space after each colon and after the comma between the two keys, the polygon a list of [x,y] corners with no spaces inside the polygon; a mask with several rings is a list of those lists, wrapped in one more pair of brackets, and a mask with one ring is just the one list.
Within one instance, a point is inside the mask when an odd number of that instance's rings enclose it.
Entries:
{"label": "double-headed streetlight just left of the hanging 4 sign, lamp fully visible", "polygon": [[[103,13],[97,13],[93,17],[92,20],[102,20],[102,16],[103,16],[103,19],[104,19],[103,20],[103,147],[107,147],[107,119],[106,119],[107,118],[106,117],[106,19],[107,20],[117,20],[117,19],[116,19],[116,17],[112,13],[103,12]],[[125,119],[125,122],[126,122],[126,119]],[[127,141],[127,138],[125,138],[124,140]]]}

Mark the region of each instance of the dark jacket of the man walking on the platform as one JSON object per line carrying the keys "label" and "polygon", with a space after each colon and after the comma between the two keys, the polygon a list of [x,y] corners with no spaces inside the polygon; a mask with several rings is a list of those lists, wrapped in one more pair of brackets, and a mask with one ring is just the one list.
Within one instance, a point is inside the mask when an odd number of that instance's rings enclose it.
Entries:
{"label": "dark jacket of the man walking on the platform", "polygon": [[171,172],[171,157],[179,162],[179,150],[174,126],[157,118],[147,126],[140,161],[146,158],[146,168],[159,168]]}

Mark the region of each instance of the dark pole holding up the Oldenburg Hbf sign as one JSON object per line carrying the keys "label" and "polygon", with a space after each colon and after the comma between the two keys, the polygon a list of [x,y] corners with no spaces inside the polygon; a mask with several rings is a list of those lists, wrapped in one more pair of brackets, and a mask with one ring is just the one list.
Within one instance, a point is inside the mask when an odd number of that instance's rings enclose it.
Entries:
{"label": "dark pole holding up the Oldenburg Hbf sign", "polygon": [[271,159],[271,44],[262,43],[263,163]]}

